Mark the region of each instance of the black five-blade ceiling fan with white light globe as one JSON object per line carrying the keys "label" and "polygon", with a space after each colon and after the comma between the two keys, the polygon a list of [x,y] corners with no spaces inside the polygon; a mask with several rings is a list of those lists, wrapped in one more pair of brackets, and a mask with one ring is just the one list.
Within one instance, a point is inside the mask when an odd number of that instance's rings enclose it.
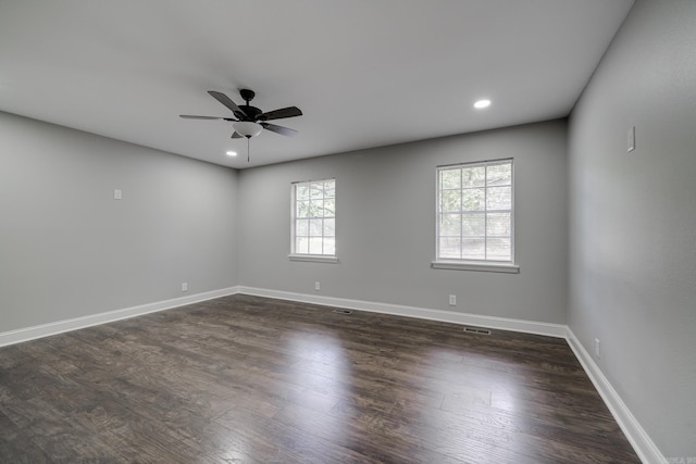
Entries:
{"label": "black five-blade ceiling fan with white light globe", "polygon": [[232,111],[234,117],[195,116],[191,114],[181,114],[179,116],[187,120],[232,121],[232,127],[234,127],[235,129],[235,131],[232,134],[233,139],[243,137],[250,139],[251,137],[256,137],[261,134],[261,130],[263,129],[289,137],[297,135],[297,130],[290,129],[289,127],[283,127],[275,124],[266,123],[266,121],[272,120],[283,120],[285,117],[301,116],[302,112],[297,106],[287,106],[264,113],[260,109],[251,106],[249,104],[249,102],[253,100],[253,97],[256,96],[253,90],[239,90],[241,99],[246,102],[246,104],[240,105],[237,105],[229,99],[229,97],[222,92],[209,90],[208,93],[210,93],[212,98],[228,108]]}

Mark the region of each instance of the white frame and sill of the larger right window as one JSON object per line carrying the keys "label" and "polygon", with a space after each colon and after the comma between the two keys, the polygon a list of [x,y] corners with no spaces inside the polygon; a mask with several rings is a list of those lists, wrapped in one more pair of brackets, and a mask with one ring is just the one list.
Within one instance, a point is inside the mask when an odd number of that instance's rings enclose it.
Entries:
{"label": "white frame and sill of the larger right window", "polygon": [[[443,211],[440,211],[442,208],[442,193],[444,190],[442,186],[440,186],[440,180],[442,180],[442,176],[440,173],[443,171],[448,171],[448,170],[452,170],[452,168],[467,168],[467,167],[478,167],[478,166],[484,166],[486,167],[486,170],[489,166],[496,166],[496,165],[500,165],[500,164],[510,164],[510,171],[511,171],[511,176],[510,176],[510,190],[511,190],[511,203],[510,203],[510,209],[505,209],[505,210],[488,210],[487,208],[487,193],[488,193],[488,188],[492,188],[490,186],[486,186],[484,183],[484,210],[482,211],[484,214],[484,252],[486,250],[486,241],[488,240],[488,233],[487,233],[487,220],[488,220],[488,214],[495,214],[496,212],[509,212],[510,213],[510,260],[495,260],[495,259],[483,259],[483,260],[472,260],[472,259],[452,259],[452,258],[440,258],[440,218],[442,215],[444,214]],[[478,161],[478,162],[470,162],[470,163],[458,163],[458,164],[449,164],[449,165],[443,165],[443,166],[437,166],[436,170],[436,205],[435,205],[435,211],[436,211],[436,218],[435,218],[435,224],[436,224],[436,237],[435,237],[435,261],[432,262],[432,267],[433,268],[438,268],[438,269],[458,269],[458,271],[483,271],[483,272],[498,272],[498,273],[519,273],[520,272],[520,267],[519,265],[515,264],[514,262],[514,162],[513,159],[501,159],[501,160],[488,160],[488,161]],[[465,189],[465,187],[460,186],[459,190],[463,191]],[[462,211],[463,212],[463,211]],[[461,234],[461,233],[460,233]],[[460,237],[464,237],[463,235],[460,235]]]}

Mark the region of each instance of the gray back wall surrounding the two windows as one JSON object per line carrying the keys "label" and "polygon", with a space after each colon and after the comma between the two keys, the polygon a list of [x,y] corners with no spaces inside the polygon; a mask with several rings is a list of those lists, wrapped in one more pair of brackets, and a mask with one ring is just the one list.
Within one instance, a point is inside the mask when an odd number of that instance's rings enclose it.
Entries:
{"label": "gray back wall surrounding the two windows", "polygon": [[[239,283],[315,293],[319,280],[321,296],[564,324],[566,148],[562,120],[245,170]],[[432,269],[436,166],[510,156],[521,273]],[[340,263],[290,262],[290,183],[328,177]]]}

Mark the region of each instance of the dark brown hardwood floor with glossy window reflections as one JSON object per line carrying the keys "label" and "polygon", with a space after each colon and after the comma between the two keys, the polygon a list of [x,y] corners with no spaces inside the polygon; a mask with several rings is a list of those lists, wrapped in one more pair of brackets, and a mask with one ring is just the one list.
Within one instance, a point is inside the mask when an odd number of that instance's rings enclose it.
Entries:
{"label": "dark brown hardwood floor with glossy window reflections", "polygon": [[0,349],[0,462],[639,462],[562,339],[234,296]]}

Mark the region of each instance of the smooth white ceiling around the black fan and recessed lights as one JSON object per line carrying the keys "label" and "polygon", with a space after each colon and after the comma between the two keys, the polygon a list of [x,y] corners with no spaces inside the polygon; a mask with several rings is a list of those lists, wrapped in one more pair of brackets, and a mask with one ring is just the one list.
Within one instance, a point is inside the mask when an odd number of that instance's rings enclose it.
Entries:
{"label": "smooth white ceiling around the black fan and recessed lights", "polygon": [[[0,110],[237,168],[569,114],[633,0],[0,0]],[[211,98],[303,116],[231,139]],[[487,97],[487,110],[472,103]],[[236,150],[229,158],[225,151]]]}

